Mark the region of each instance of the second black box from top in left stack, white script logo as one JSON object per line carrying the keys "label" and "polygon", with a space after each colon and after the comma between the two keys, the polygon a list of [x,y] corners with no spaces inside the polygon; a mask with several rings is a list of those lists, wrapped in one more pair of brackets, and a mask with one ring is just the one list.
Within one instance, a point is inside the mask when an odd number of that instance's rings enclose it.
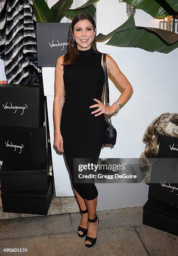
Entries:
{"label": "second black box from top in left stack, white script logo", "polygon": [[34,170],[47,161],[45,132],[45,126],[0,126],[0,159]]}

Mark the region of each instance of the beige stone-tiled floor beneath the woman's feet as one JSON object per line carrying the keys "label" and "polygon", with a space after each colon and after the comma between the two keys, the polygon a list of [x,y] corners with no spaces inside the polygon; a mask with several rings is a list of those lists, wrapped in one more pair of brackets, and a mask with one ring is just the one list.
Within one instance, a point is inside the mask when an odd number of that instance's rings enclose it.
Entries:
{"label": "beige stone-tiled floor beneath the woman's feet", "polygon": [[[97,243],[76,234],[80,213],[0,220],[0,255],[177,256],[178,236],[142,224],[143,207],[98,211]],[[4,248],[27,248],[5,253]]]}

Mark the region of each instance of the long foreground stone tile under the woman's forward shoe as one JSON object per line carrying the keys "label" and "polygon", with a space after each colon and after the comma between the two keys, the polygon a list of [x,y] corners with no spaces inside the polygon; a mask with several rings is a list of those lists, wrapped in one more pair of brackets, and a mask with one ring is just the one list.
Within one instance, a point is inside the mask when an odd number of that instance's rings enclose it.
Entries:
{"label": "long foreground stone tile under the woman's forward shoe", "polygon": [[[1,241],[1,248],[27,248],[28,256],[147,256],[133,228],[113,228],[98,231],[97,243],[93,248],[87,248],[85,238],[77,234],[59,234],[53,236],[38,236],[17,238]],[[7,255],[7,254],[1,254]],[[19,253],[13,253],[17,256]]]}

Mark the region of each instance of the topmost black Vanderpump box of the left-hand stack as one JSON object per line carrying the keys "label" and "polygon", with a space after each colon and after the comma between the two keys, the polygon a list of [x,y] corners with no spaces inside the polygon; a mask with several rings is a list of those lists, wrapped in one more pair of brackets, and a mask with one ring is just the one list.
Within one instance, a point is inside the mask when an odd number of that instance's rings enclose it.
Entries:
{"label": "topmost black Vanderpump box of the left-hand stack", "polygon": [[43,85],[1,84],[0,125],[43,126],[45,121]]}

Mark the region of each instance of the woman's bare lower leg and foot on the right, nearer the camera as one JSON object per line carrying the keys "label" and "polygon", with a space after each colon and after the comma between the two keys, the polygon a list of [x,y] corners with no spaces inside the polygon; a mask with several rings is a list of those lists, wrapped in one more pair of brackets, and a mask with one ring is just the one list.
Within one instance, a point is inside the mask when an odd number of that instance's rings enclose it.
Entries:
{"label": "woman's bare lower leg and foot on the right, nearer the camera", "polygon": [[[98,202],[98,197],[96,197],[93,200],[86,200],[85,199],[85,203],[86,203],[87,209],[88,209],[88,218],[89,219],[93,220],[95,218],[97,202]],[[95,238],[97,236],[97,227],[98,227],[98,219],[95,223],[88,222],[87,236]],[[85,243],[86,244],[91,244],[90,241],[85,241]]]}

